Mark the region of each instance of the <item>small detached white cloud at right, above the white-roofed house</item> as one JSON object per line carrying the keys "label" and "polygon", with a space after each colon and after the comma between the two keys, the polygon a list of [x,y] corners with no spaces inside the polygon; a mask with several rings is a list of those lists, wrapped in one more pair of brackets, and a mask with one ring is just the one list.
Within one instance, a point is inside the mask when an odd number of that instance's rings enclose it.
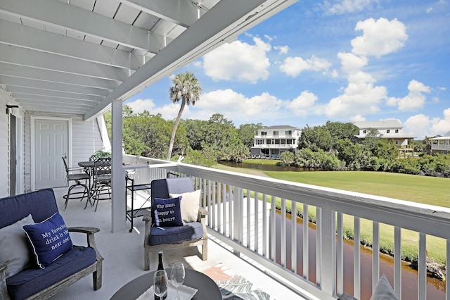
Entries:
{"label": "small detached white cloud at right, above the white-roofed house", "polygon": [[398,106],[400,111],[413,111],[418,108],[423,108],[426,99],[423,93],[430,93],[430,87],[417,80],[411,80],[408,89],[408,95],[403,98],[391,97],[387,100],[387,105]]}

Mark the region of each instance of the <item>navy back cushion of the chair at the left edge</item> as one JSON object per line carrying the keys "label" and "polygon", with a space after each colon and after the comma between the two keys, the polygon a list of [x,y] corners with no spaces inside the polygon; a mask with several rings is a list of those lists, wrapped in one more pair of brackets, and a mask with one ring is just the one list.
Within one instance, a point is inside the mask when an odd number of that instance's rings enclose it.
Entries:
{"label": "navy back cushion of the chair at the left edge", "polygon": [[30,213],[36,223],[58,213],[53,189],[41,189],[0,199],[0,227],[22,220]]}

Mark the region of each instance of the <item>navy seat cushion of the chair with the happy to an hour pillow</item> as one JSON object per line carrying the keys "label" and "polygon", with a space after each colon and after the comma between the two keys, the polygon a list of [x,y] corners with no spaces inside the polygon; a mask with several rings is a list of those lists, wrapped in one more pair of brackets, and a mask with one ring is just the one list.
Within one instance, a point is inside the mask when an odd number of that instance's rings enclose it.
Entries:
{"label": "navy seat cushion of the chair with the happy to an hour pillow", "polygon": [[150,245],[176,244],[203,237],[200,222],[185,223],[183,226],[150,228]]}

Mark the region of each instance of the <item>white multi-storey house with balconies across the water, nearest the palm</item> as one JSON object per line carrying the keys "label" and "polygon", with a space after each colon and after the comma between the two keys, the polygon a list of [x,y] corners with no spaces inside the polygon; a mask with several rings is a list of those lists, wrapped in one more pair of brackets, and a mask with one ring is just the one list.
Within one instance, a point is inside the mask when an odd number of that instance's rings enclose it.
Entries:
{"label": "white multi-storey house with balconies across the water, nearest the palm", "polygon": [[275,125],[259,129],[250,149],[251,158],[279,159],[285,151],[297,153],[302,130],[289,125]]}

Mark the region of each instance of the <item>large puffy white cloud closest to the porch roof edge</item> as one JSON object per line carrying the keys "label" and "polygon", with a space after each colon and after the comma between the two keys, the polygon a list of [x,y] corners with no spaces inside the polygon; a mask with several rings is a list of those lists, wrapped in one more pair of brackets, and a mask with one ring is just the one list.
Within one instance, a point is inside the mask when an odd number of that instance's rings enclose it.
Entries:
{"label": "large puffy white cloud closest to the porch roof edge", "polygon": [[270,62],[266,54],[271,45],[253,37],[254,45],[235,41],[223,44],[203,56],[203,70],[213,80],[238,80],[257,83],[269,77]]}

